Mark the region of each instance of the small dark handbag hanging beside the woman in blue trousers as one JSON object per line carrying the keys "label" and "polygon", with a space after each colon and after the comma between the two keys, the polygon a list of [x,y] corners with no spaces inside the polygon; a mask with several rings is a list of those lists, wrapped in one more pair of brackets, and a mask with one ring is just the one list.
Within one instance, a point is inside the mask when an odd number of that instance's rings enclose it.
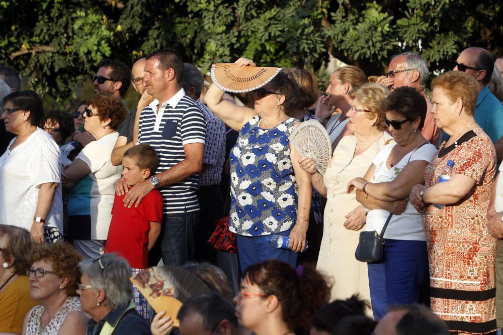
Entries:
{"label": "small dark handbag hanging beside the woman in blue trousers", "polygon": [[384,250],[384,232],[388,227],[393,213],[389,213],[388,219],[382,228],[381,234],[373,232],[360,232],[360,241],[356,247],[355,257],[360,262],[371,263],[382,259]]}

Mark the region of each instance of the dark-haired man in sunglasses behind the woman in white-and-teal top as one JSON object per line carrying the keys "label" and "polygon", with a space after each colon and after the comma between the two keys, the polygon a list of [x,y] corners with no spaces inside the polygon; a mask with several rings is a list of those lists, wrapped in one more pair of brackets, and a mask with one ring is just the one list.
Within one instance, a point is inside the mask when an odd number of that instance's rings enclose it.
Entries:
{"label": "dark-haired man in sunglasses behind the woman in white-and-teal top", "polygon": [[[122,100],[131,84],[131,71],[127,65],[116,60],[104,59],[98,67],[98,72],[93,78],[95,94],[108,92]],[[122,100],[122,102],[126,105],[125,100]],[[123,126],[124,122],[119,125],[117,131],[121,132]],[[91,134],[86,132],[83,125],[71,135],[71,139],[78,141],[82,147],[95,140]]]}

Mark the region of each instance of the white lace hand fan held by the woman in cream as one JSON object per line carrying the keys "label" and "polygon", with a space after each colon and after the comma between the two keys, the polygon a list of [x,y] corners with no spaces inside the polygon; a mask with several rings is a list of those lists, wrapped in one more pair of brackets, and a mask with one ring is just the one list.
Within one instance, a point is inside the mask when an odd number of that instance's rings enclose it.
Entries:
{"label": "white lace hand fan held by the woman in cream", "polygon": [[295,149],[302,157],[309,157],[316,162],[319,173],[325,174],[332,156],[332,145],[325,128],[316,120],[301,123],[290,135]]}

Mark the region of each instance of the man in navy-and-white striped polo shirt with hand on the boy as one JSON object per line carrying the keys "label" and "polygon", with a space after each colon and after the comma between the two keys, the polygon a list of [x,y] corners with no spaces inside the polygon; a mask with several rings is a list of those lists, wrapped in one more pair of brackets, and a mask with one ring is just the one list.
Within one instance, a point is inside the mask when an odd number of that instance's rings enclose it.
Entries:
{"label": "man in navy-and-white striped polo shirt with hand on the boy", "polygon": [[138,143],[155,149],[159,167],[124,197],[124,204],[131,207],[154,188],[160,191],[164,208],[159,241],[162,261],[171,266],[193,258],[193,228],[199,220],[196,189],[206,139],[203,113],[180,87],[183,69],[176,50],[160,50],[147,57],[143,85],[154,100],[141,111]]}

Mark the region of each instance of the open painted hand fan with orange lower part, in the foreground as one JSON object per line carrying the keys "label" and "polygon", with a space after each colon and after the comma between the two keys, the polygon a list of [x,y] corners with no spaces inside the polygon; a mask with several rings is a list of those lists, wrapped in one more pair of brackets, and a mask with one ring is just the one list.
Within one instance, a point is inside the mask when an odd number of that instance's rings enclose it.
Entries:
{"label": "open painted hand fan with orange lower part, in the foreground", "polygon": [[204,282],[189,271],[171,267],[154,266],[130,278],[156,313],[165,310],[173,325],[180,326],[178,311],[193,295],[210,292]]}

